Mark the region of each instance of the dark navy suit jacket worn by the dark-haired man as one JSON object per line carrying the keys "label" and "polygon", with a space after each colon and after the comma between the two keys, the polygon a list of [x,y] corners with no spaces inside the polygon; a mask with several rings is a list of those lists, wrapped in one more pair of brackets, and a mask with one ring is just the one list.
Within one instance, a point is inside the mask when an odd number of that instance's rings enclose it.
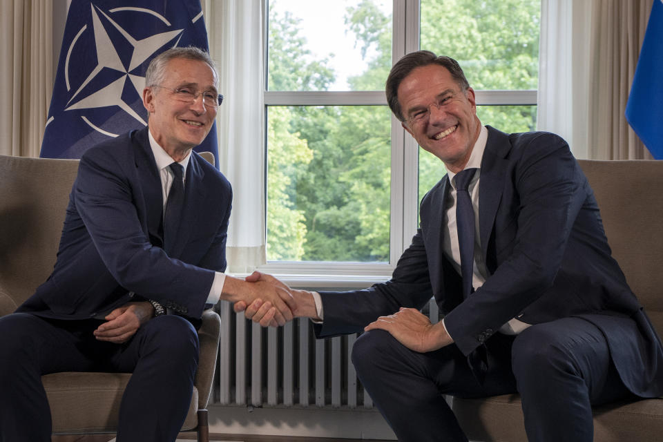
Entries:
{"label": "dark navy suit jacket worn by the dark-haired man", "polygon": [[[611,256],[584,173],[557,135],[506,134],[488,126],[481,160],[479,231],[489,277],[463,300],[461,277],[443,254],[445,176],[421,201],[421,226],[392,279],[365,290],[320,292],[319,337],[358,332],[431,296],[455,344],[470,354],[511,318],[546,323],[581,316],[604,332],[626,386],[663,394],[663,349]],[[617,317],[631,317],[624,329]],[[631,323],[626,321],[626,323]]]}

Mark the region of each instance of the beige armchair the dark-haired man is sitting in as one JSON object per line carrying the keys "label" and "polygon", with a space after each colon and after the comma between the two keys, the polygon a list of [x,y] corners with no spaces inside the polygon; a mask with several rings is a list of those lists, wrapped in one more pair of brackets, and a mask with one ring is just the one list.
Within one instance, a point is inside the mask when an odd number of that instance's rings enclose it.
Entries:
{"label": "beige armchair the dark-haired man is sitting in", "polygon": [[[663,332],[663,162],[580,160],[626,280],[655,329]],[[520,398],[454,398],[452,408],[472,441],[527,441]],[[594,410],[597,442],[660,441],[663,398],[613,403]]]}

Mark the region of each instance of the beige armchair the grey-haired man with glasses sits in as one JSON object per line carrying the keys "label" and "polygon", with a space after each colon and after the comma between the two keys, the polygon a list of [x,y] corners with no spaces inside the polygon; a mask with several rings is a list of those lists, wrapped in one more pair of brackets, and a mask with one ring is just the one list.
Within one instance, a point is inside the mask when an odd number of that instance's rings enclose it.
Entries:
{"label": "beige armchair the grey-haired man with glasses sits in", "polygon": [[[211,154],[204,155],[213,162]],[[10,314],[50,275],[78,160],[0,155],[0,316]],[[204,311],[200,361],[182,431],[209,441],[207,402],[220,336],[220,318]],[[54,434],[113,433],[128,373],[42,376]]]}

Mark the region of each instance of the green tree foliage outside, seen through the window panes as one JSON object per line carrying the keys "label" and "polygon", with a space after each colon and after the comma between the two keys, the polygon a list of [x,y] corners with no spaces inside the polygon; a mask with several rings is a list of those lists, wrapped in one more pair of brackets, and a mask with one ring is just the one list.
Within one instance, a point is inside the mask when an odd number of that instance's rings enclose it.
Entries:
{"label": "green tree foliage outside, seen through the window panes", "polygon": [[[273,2],[272,2],[273,3]],[[537,87],[539,1],[424,0],[421,48],[459,61],[480,89]],[[350,90],[383,90],[392,65],[391,17],[372,0],[347,8],[366,70]],[[269,12],[269,90],[327,90],[332,55],[314,59],[300,19]],[[534,128],[534,106],[480,106],[483,124]],[[390,112],[386,106],[273,106],[268,112],[269,260],[387,261]],[[445,173],[419,155],[420,197]]]}

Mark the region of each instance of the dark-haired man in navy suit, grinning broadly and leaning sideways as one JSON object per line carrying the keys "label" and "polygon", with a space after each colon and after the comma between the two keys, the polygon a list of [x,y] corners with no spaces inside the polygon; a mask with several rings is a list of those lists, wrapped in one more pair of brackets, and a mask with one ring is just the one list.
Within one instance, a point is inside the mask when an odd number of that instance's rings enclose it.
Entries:
{"label": "dark-haired man in navy suit, grinning broadly and leaning sideways", "polygon": [[[566,142],[482,126],[460,66],[432,52],[398,61],[386,89],[448,174],[390,281],[293,294],[318,337],[366,330],[352,361],[398,440],[467,441],[443,394],[517,391],[528,439],[555,442],[592,441],[592,405],[663,394],[660,339]],[[431,296],[436,324],[419,311]],[[271,321],[256,305],[246,314]]]}

